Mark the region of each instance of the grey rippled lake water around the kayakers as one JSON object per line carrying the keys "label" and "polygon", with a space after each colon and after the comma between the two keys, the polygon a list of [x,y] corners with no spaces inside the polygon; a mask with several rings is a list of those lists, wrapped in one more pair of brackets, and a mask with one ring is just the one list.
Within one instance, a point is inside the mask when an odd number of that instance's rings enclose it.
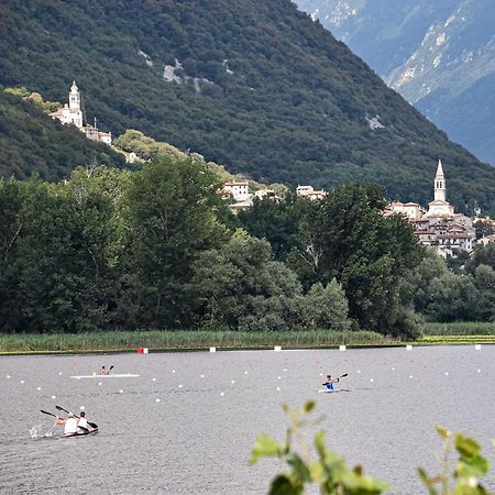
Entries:
{"label": "grey rippled lake water around the kayakers", "polygon": [[[438,472],[436,425],[474,436],[495,461],[494,363],[488,345],[0,358],[0,493],[264,494],[278,464],[249,466],[253,442],[282,440],[280,405],[311,398],[331,448],[391,494],[422,494],[416,468]],[[141,376],[70,378],[102,364]],[[351,392],[319,394],[329,371],[349,373]],[[53,428],[40,409],[56,404],[85,406],[100,432],[33,440],[32,427]]]}

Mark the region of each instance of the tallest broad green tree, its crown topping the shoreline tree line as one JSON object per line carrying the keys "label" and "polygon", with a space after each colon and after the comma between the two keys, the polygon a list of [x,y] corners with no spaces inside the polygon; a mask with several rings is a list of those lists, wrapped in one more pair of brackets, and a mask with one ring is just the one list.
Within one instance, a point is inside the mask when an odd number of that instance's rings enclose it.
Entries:
{"label": "tallest broad green tree, its crown topping the shoreline tree line", "polygon": [[132,175],[125,197],[132,290],[146,326],[190,323],[187,284],[202,251],[227,238],[217,176],[193,160],[155,160]]}

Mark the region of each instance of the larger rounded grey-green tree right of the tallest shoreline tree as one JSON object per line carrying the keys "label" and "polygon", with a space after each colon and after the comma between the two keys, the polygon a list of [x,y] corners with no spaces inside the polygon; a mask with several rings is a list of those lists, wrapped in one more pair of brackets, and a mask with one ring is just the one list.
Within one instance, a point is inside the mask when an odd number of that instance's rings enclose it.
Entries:
{"label": "larger rounded grey-green tree right of the tallest shoreline tree", "polygon": [[274,330],[294,324],[301,287],[295,273],[274,261],[267,241],[237,231],[219,250],[195,263],[191,290],[201,324]]}

